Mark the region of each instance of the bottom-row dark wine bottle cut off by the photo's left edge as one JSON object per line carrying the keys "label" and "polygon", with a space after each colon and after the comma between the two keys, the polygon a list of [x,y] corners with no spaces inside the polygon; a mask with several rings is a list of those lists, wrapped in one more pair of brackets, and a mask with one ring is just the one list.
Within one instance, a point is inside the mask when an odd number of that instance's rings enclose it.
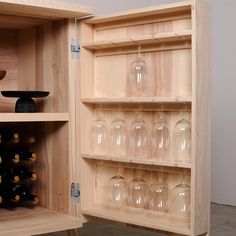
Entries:
{"label": "bottom-row dark wine bottle cut off by the photo's left edge", "polygon": [[20,195],[9,185],[0,185],[0,206],[10,207],[20,201]]}

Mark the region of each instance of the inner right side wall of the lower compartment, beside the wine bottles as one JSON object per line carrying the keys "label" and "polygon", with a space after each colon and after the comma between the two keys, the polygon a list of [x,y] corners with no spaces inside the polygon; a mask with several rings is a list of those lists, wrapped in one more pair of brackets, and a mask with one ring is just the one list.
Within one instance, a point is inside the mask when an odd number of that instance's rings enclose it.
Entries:
{"label": "inner right side wall of the lower compartment, beside the wine bottles", "polygon": [[[36,171],[39,181],[36,193],[40,204],[48,209],[68,213],[69,210],[69,126],[68,123],[37,123],[35,134],[38,142]],[[55,148],[57,147],[57,148]]]}

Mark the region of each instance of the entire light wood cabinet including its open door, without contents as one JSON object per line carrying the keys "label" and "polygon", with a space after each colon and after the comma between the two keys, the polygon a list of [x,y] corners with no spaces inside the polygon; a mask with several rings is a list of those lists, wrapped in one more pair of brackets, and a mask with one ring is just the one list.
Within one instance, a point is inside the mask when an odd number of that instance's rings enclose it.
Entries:
{"label": "entire light wood cabinet including its open door, without contents", "polygon": [[[40,157],[40,182],[35,191],[41,199],[35,209],[0,209],[0,235],[78,228],[89,216],[181,235],[209,235],[208,6],[193,0],[84,20],[92,14],[86,6],[8,0],[0,1],[0,13],[0,69],[7,70],[1,90],[50,91],[47,99],[37,100],[39,112],[32,114],[13,113],[15,100],[0,96],[1,126],[30,128],[37,134],[33,147]],[[132,96],[127,79],[139,46],[149,65],[146,97]],[[128,124],[141,110],[150,127],[161,115],[171,136],[176,122],[189,120],[191,161],[176,161],[172,148],[168,160],[151,154],[134,158],[128,148],[125,157],[112,151],[96,155],[89,133],[100,108],[108,123],[119,110]],[[118,168],[127,180],[139,170],[148,183],[162,169],[170,189],[186,173],[190,216],[107,207],[104,185]],[[79,183],[79,200],[71,197],[72,183]]]}

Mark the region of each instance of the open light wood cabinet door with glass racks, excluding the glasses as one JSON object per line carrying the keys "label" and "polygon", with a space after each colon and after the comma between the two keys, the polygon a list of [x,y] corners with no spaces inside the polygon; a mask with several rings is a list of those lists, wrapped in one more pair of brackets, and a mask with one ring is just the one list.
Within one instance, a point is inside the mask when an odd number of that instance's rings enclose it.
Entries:
{"label": "open light wood cabinet door with glass racks, excluding the glasses", "polygon": [[[81,209],[85,215],[181,235],[209,235],[209,18],[208,5],[193,0],[93,18],[79,26],[81,146],[77,155],[81,157]],[[128,68],[138,45],[151,67],[153,90],[148,97],[132,97],[127,84]],[[137,159],[129,154],[116,157],[112,152],[93,153],[88,131],[97,109],[104,110],[108,124],[119,109],[128,124],[137,109],[146,114],[144,117],[150,125],[154,113],[166,115],[167,120],[175,113],[179,117],[190,114],[187,119],[192,123],[191,163]],[[169,122],[174,124],[176,120]],[[146,209],[106,207],[103,187],[117,173],[117,168],[131,180],[140,166],[146,170],[142,177],[147,182],[148,173],[158,172],[160,167],[167,172],[190,170],[191,215],[188,219],[181,221],[181,218],[173,219],[169,214]],[[169,186],[174,183],[170,177]],[[153,220],[147,221],[147,218]],[[173,225],[175,223],[177,225]]]}

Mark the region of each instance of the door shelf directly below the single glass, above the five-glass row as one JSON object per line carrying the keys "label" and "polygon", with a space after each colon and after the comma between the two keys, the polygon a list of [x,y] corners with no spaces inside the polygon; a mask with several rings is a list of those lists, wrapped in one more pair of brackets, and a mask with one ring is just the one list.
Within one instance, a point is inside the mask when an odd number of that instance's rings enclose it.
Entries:
{"label": "door shelf directly below the single glass, above the five-glass row", "polygon": [[112,103],[191,103],[191,97],[124,97],[124,98],[82,98],[81,102],[91,104]]}

